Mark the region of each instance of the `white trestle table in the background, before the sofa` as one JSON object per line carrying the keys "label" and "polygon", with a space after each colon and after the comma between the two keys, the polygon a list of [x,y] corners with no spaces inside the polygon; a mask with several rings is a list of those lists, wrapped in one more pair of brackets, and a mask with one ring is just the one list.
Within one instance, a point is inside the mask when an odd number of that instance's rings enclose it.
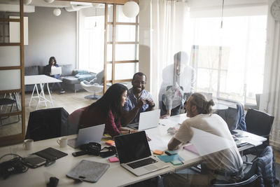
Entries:
{"label": "white trestle table in the background, before the sofa", "polygon": [[[33,98],[38,98],[38,103],[37,103],[37,106],[36,106],[36,110],[38,109],[38,106],[41,102],[44,102],[45,106],[47,106],[47,102],[50,102],[53,106],[52,95],[50,93],[50,88],[48,87],[48,83],[61,83],[61,82],[62,81],[60,81],[57,78],[52,78],[50,76],[45,76],[45,75],[25,76],[25,85],[34,85],[32,95],[31,95],[31,98],[30,98],[30,101],[29,101],[29,106],[30,106]],[[37,84],[40,85],[40,88],[41,88],[40,93],[38,92]],[[45,98],[45,92],[43,90],[45,84],[47,84],[48,95],[50,96],[50,100]],[[34,91],[35,90],[37,92],[36,96],[34,96]]]}

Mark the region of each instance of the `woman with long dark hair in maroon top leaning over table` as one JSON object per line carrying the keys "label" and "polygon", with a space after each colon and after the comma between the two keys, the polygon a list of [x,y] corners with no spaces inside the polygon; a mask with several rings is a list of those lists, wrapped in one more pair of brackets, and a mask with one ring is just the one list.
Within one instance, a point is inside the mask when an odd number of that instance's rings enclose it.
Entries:
{"label": "woman with long dark hair in maroon top leaning over table", "polygon": [[79,129],[105,123],[104,133],[110,134],[111,137],[136,132],[120,124],[125,102],[127,87],[118,83],[111,85],[97,102],[81,109]]}

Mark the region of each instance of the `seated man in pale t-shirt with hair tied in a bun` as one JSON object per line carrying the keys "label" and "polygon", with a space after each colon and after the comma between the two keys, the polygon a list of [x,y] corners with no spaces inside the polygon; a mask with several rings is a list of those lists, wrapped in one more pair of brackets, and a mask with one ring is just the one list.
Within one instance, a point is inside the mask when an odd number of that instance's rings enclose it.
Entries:
{"label": "seated man in pale t-shirt with hair tied in a bun", "polygon": [[[213,179],[237,181],[243,177],[243,161],[232,134],[223,118],[212,114],[212,106],[214,106],[212,99],[207,101],[200,93],[191,95],[185,105],[189,118],[182,123],[178,132],[169,141],[168,149],[175,150],[180,144],[190,141],[194,133],[190,127],[227,139],[232,146],[217,153],[204,155],[207,174],[167,174],[163,179],[165,186],[210,186]],[[205,146],[211,145],[205,142]]]}

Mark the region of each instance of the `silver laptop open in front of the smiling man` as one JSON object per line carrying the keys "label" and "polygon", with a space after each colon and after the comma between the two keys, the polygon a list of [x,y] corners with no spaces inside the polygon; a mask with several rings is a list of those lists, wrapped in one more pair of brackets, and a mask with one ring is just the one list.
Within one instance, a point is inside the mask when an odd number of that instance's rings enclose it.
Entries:
{"label": "silver laptop open in front of the smiling man", "polygon": [[154,111],[145,111],[140,113],[139,123],[127,125],[135,130],[146,130],[158,127],[160,123],[160,109]]}

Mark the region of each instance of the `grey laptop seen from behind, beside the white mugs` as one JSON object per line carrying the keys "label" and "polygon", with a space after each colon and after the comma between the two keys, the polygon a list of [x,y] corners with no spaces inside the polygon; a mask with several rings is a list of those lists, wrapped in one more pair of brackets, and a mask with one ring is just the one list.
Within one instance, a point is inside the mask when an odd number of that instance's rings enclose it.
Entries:
{"label": "grey laptop seen from behind, beside the white mugs", "polygon": [[99,143],[102,139],[104,128],[105,124],[80,129],[78,131],[78,137],[69,139],[67,144],[73,148],[77,148],[78,146],[89,142]]}

